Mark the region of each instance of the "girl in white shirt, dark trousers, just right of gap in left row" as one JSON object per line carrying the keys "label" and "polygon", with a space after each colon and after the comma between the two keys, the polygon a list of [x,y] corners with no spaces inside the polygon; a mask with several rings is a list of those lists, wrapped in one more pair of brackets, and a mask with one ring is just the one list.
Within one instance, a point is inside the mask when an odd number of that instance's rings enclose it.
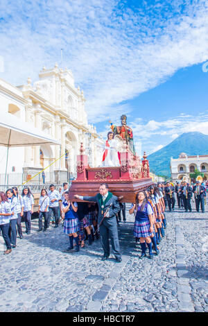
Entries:
{"label": "girl in white shirt, dark trousers, just right of gap in left row", "polygon": [[40,193],[40,200],[38,205],[38,214],[39,214],[39,221],[38,221],[39,229],[37,230],[38,232],[42,231],[42,216],[44,216],[44,232],[46,231],[47,228],[49,228],[49,223],[50,223],[49,203],[50,203],[50,198],[48,196],[48,193],[46,189],[42,189]]}

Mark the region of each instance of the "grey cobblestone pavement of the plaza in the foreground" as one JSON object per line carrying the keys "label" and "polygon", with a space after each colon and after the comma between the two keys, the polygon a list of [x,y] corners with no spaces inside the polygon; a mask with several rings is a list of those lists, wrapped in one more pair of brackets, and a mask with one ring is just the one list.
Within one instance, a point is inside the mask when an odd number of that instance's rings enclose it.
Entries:
{"label": "grey cobblestone pavement of the plaza in the foreground", "polygon": [[62,226],[37,232],[33,220],[10,255],[0,237],[0,311],[208,311],[207,208],[166,212],[166,237],[152,260],[139,260],[127,216],[119,226],[121,263],[100,260],[100,240],[62,252],[69,246]]}

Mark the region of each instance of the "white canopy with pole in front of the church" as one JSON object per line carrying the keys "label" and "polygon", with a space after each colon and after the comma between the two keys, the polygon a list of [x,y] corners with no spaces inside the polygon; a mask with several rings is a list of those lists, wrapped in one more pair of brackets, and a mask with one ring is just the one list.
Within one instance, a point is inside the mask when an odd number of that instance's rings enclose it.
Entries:
{"label": "white canopy with pole in front of the church", "polygon": [[[42,144],[60,145],[60,141],[46,135],[37,128],[18,119],[13,114],[1,112],[0,146],[40,146]],[[6,173],[8,166],[8,150],[6,157]],[[5,177],[6,177],[5,173]]]}

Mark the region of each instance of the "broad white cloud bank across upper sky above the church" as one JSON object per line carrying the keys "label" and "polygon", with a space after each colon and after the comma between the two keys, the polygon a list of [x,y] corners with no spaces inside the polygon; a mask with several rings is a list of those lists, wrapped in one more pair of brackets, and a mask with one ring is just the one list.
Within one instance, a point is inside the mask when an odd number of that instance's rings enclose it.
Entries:
{"label": "broad white cloud bank across upper sky above the church", "polygon": [[116,0],[1,1],[2,77],[34,80],[43,65],[60,62],[63,49],[90,123],[120,114],[123,101],[208,59],[208,3],[148,2],[133,11]]}

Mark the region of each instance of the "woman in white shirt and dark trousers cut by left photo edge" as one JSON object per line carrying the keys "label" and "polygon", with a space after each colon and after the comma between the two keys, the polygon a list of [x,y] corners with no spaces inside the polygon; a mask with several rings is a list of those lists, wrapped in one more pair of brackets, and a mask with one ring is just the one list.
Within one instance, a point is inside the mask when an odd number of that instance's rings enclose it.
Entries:
{"label": "woman in white shirt and dark trousers cut by left photo edge", "polygon": [[12,251],[10,237],[8,236],[11,217],[12,211],[10,209],[10,204],[8,203],[8,198],[3,191],[0,191],[0,229],[2,231],[3,240],[6,243],[6,251],[3,252],[4,255],[7,255]]}

